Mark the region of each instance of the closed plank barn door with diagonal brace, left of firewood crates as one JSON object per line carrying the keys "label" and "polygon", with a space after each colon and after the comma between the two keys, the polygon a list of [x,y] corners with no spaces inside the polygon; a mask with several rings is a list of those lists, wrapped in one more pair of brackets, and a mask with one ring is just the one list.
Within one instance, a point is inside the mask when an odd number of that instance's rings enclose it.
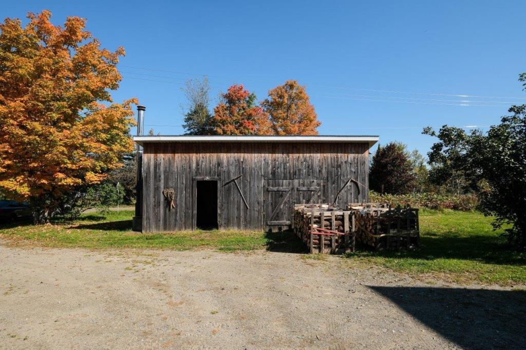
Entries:
{"label": "closed plank barn door with diagonal brace, left of firewood crates", "polygon": [[290,227],[292,208],[292,180],[266,180],[264,186],[265,225],[272,231]]}

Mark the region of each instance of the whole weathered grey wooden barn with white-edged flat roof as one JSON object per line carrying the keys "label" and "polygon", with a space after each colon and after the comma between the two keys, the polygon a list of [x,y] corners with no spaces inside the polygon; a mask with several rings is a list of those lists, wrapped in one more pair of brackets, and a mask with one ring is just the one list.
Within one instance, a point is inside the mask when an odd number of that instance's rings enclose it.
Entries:
{"label": "whole weathered grey wooden barn with white-edged flat roof", "polygon": [[[287,229],[294,204],[368,201],[377,136],[136,136],[134,228]],[[140,167],[139,167],[140,169]]]}

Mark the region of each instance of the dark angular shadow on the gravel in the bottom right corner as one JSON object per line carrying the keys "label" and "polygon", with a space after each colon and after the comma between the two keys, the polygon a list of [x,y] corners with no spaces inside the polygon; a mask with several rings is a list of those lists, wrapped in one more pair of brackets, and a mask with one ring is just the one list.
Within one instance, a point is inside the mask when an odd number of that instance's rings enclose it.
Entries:
{"label": "dark angular shadow on the gravel in the bottom right corner", "polygon": [[369,288],[462,348],[517,349],[526,344],[526,291]]}

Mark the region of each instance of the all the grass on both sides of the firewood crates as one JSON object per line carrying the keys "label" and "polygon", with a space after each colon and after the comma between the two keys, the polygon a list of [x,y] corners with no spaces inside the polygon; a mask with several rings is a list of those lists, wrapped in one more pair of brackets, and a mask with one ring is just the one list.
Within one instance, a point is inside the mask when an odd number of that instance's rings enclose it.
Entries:
{"label": "all the grass on both sides of the firewood crates", "polygon": [[[29,223],[4,224],[0,226],[0,237],[11,244],[61,248],[305,252],[301,242],[290,232],[215,230],[141,234],[131,232],[132,216],[131,211],[121,211],[107,215],[85,214],[73,223],[56,221],[36,227]],[[492,231],[491,220],[478,212],[422,210],[420,250],[360,250],[348,254],[345,262],[376,264],[420,275],[439,274],[462,282],[526,283],[526,255],[510,251],[501,232]]]}

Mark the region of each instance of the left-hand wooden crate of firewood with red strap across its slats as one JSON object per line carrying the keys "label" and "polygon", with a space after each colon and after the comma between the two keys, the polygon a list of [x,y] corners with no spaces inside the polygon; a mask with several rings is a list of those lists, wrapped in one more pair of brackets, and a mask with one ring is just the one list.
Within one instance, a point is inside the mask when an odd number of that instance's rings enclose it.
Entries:
{"label": "left-hand wooden crate of firewood with red strap across its slats", "polygon": [[355,251],[356,234],[350,210],[329,204],[299,204],[294,208],[293,229],[310,253],[341,254]]}

